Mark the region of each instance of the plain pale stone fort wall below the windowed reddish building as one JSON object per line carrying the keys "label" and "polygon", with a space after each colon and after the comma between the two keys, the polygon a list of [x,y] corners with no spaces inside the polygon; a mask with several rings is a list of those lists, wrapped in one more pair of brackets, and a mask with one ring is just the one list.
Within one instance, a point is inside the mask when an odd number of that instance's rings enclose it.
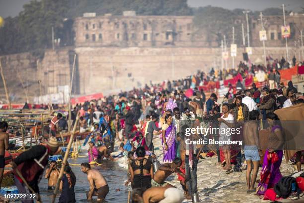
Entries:
{"label": "plain pale stone fort wall below the windowed reddish building", "polygon": [[[242,51],[242,48],[238,49],[235,65],[243,60]],[[263,63],[262,53],[262,47],[254,47],[250,60]],[[298,50],[294,48],[290,48],[289,53],[290,58],[298,56]],[[31,53],[1,56],[10,93],[16,101],[24,102],[24,89],[16,77],[16,71],[25,81],[30,98],[40,95],[40,87],[43,95],[55,93],[58,86],[69,85],[74,54],[76,67],[72,93],[75,95],[128,90],[149,84],[150,81],[179,79],[198,70],[221,68],[220,48],[71,47],[47,50],[43,59],[37,59]],[[266,55],[281,58],[285,56],[285,48],[267,47]],[[231,57],[227,64],[228,68],[232,68]],[[41,86],[38,80],[41,80]],[[1,98],[4,98],[2,81],[0,91]]]}

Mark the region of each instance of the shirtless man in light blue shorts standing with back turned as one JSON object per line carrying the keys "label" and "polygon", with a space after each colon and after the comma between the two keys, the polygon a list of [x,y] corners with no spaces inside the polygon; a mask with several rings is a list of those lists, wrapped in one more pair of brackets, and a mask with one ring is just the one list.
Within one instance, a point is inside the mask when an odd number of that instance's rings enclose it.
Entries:
{"label": "shirtless man in light blue shorts standing with back turned", "polygon": [[[247,163],[246,180],[247,180],[247,193],[255,192],[254,183],[259,170],[260,156],[262,156],[262,150],[259,142],[258,133],[258,119],[260,113],[257,110],[253,110],[249,113],[249,121],[244,124],[244,142],[245,142],[245,158]],[[250,180],[250,175],[253,173]]]}

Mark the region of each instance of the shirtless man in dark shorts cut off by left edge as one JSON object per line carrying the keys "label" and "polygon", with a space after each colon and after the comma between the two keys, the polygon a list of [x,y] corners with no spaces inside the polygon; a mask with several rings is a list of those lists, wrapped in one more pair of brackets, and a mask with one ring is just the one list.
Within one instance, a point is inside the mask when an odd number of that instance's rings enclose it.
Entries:
{"label": "shirtless man in dark shorts cut off by left edge", "polygon": [[7,122],[0,122],[0,190],[5,167],[5,150],[8,150],[9,135],[6,133],[7,127]]}

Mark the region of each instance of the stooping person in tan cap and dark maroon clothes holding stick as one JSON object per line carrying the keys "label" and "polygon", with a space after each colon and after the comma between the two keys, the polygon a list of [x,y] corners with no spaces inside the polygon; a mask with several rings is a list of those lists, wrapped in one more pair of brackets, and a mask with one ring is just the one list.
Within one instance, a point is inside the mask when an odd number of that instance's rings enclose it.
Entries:
{"label": "stooping person in tan cap and dark maroon clothes holding stick", "polygon": [[[33,146],[10,162],[19,193],[32,193],[34,191],[38,193],[39,200],[38,183],[48,164],[49,155],[54,155],[57,150],[58,142],[56,138],[50,137],[46,144]],[[22,199],[22,203],[33,203],[33,200]]]}

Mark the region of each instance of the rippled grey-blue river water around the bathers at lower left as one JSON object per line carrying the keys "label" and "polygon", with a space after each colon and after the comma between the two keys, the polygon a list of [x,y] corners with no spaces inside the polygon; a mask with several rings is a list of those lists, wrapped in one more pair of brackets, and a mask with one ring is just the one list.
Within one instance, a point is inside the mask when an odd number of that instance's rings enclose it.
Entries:
{"label": "rippled grey-blue river water around the bathers at lower left", "polygon": [[[83,155],[83,154],[81,154]],[[88,158],[69,159],[69,163],[81,164],[82,162],[88,162]],[[88,202],[86,200],[86,191],[89,190],[89,182],[87,175],[81,172],[80,166],[72,166],[72,171],[76,176],[75,185],[75,199],[76,202]],[[92,166],[92,168],[100,171],[108,182],[110,191],[105,198],[104,203],[125,203],[128,200],[128,190],[124,186],[124,181],[127,179],[127,171],[118,166],[118,163],[104,160],[101,166]],[[43,203],[49,203],[52,200],[52,193],[47,192],[48,181],[43,178],[40,181],[39,188],[41,199]],[[120,191],[116,191],[120,189]],[[57,194],[56,203],[58,202],[60,193]],[[97,196],[93,196],[93,199],[97,199]]]}

